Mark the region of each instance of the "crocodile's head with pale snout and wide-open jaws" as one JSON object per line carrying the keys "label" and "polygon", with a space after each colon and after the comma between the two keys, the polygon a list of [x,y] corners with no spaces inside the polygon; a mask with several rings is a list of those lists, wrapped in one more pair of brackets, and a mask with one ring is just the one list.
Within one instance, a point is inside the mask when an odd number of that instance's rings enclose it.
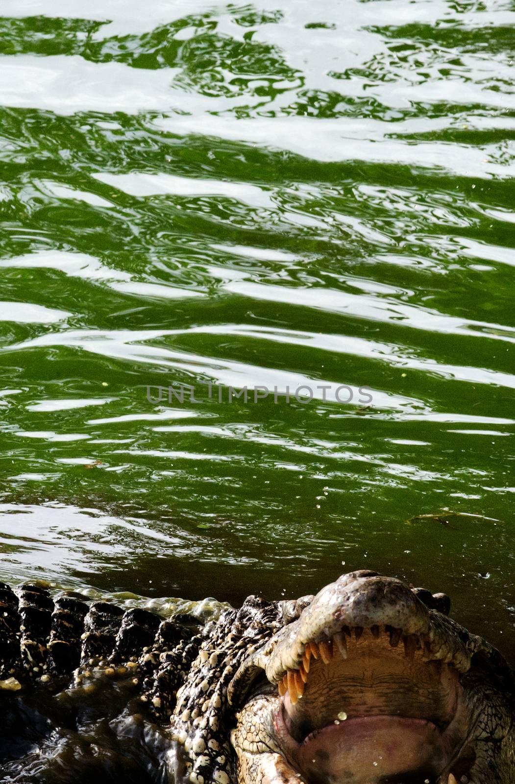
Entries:
{"label": "crocodile's head with pale snout and wide-open jaws", "polygon": [[280,779],[289,771],[310,784],[504,782],[495,772],[506,764],[513,773],[513,760],[502,761],[515,753],[505,744],[510,669],[447,617],[444,594],[361,571],[284,610],[298,617],[248,657],[230,688],[233,702],[238,691],[251,695],[239,724],[252,724],[250,710],[266,736],[256,745],[258,732],[237,729],[243,768],[253,750],[256,772],[256,750],[269,749],[277,754],[269,780],[277,760]]}

